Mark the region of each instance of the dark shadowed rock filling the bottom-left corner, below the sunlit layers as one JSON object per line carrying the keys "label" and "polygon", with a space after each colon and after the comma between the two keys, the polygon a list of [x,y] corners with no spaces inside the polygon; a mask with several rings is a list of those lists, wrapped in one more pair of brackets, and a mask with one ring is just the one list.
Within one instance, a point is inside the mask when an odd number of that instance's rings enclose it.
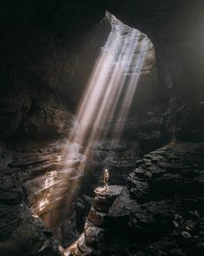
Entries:
{"label": "dark shadowed rock filling the bottom-left corner, below the sunlit layers", "polygon": [[57,255],[52,233],[25,203],[21,168],[10,167],[13,157],[3,145],[0,155],[1,255]]}

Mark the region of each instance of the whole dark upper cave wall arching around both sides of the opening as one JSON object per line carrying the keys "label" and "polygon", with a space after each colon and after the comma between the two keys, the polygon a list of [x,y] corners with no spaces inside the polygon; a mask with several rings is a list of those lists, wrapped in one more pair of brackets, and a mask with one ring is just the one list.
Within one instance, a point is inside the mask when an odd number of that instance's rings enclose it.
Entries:
{"label": "whole dark upper cave wall arching around both sides of the opening", "polygon": [[[54,97],[58,108],[61,102],[74,108],[99,53],[96,38],[110,30],[107,24],[103,31],[97,27],[105,9],[150,37],[156,49],[158,101],[168,102],[170,112],[187,102],[202,102],[201,1],[53,0],[20,6],[10,1],[2,3],[0,28],[2,136],[21,130],[39,96]],[[103,40],[105,36],[100,37]],[[175,115],[169,117],[171,122]]]}

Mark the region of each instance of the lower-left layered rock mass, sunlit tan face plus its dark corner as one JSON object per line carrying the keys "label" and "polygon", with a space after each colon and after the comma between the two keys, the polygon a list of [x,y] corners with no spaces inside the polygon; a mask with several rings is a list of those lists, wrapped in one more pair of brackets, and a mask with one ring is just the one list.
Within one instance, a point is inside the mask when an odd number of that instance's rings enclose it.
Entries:
{"label": "lower-left layered rock mass, sunlit tan face plus its dark corner", "polygon": [[53,255],[54,240],[67,246],[77,237],[74,206],[85,163],[79,150],[66,139],[1,146],[3,255]]}

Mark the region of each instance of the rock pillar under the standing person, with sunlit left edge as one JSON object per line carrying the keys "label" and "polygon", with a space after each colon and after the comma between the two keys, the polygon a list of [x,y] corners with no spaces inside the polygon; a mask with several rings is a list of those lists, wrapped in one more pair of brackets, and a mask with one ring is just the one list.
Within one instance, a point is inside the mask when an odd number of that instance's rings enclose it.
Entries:
{"label": "rock pillar under the standing person, with sunlit left edge", "polygon": [[121,194],[122,186],[97,187],[92,208],[88,214],[84,231],[64,255],[101,255],[104,246],[106,218],[114,200]]}

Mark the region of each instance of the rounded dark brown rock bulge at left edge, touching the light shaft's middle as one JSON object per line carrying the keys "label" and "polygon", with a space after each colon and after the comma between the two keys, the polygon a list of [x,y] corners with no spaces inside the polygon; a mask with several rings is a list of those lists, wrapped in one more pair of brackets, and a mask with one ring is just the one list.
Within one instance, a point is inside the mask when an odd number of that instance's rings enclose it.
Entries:
{"label": "rounded dark brown rock bulge at left edge, touching the light shaft's middle", "polygon": [[[12,93],[11,93],[12,96]],[[19,98],[20,97],[20,100]],[[79,130],[74,115],[52,94],[14,95],[1,99],[1,137],[59,137]]]}

